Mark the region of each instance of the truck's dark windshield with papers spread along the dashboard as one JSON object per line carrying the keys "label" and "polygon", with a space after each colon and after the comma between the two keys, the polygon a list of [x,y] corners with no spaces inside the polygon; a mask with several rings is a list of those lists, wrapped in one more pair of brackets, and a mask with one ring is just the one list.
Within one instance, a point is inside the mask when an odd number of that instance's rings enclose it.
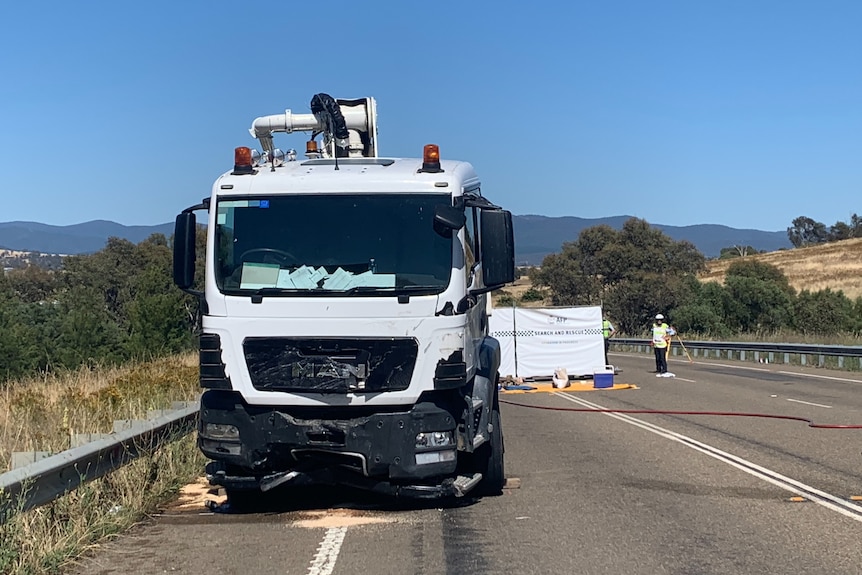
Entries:
{"label": "truck's dark windshield with papers spread along the dashboard", "polygon": [[439,293],[452,268],[452,240],[434,231],[441,203],[447,195],[222,198],[216,281],[226,294]]}

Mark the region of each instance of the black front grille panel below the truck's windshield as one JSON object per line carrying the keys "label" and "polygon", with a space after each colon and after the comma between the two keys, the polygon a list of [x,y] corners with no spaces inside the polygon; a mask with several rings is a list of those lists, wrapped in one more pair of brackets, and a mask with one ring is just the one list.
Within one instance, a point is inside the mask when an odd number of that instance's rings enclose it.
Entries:
{"label": "black front grille panel below the truck's windshield", "polygon": [[412,338],[248,338],[245,361],[255,389],[376,393],[410,386],[419,346]]}

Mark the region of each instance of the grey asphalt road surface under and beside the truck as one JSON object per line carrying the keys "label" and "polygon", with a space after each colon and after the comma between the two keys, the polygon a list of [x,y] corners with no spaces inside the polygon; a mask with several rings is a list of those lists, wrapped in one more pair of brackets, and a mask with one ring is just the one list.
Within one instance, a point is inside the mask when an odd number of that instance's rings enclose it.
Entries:
{"label": "grey asphalt road surface under and beside the truck", "polygon": [[[862,573],[862,376],[612,354],[637,389],[505,394],[504,495],[400,506],[312,490],[168,509],[70,573]],[[537,409],[535,407],[552,408]],[[802,496],[795,501],[795,496]]]}

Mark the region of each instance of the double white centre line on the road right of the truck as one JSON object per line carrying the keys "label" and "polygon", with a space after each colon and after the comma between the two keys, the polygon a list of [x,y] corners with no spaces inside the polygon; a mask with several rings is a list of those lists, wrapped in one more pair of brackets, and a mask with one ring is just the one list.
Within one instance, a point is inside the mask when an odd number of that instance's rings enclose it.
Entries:
{"label": "double white centre line on the road right of the truck", "polygon": [[[593,403],[591,401],[587,401],[581,398],[571,397],[562,393],[555,393],[558,397],[562,397],[566,401],[571,401],[573,403],[577,403],[584,407],[589,407],[592,409],[609,409],[607,407],[603,407],[597,403]],[[676,441],[685,445],[686,447],[690,447],[695,451],[700,451],[710,457],[727,463],[737,469],[748,473],[749,475],[753,475],[758,479],[762,479],[767,483],[771,483],[776,487],[780,487],[794,495],[802,495],[810,501],[817,503],[827,509],[840,513],[850,519],[854,519],[856,521],[862,522],[862,507],[841,499],[840,497],[836,497],[831,493],[826,493],[825,491],[820,491],[816,487],[812,487],[810,485],[806,485],[801,481],[797,481],[790,477],[785,477],[776,471],[772,471],[771,469],[767,469],[766,467],[761,467],[756,463],[752,463],[751,461],[745,460],[741,457],[737,457],[731,453],[727,453],[726,451],[722,451],[716,447],[712,447],[711,445],[707,445],[705,443],[701,443],[691,437],[686,435],[682,435],[680,433],[676,433],[675,431],[670,431],[669,429],[665,429],[663,427],[659,427],[658,425],[653,425],[652,423],[637,419],[635,417],[631,417],[624,413],[603,413],[602,415],[607,415],[608,417],[613,417],[614,419],[618,419],[625,423],[634,425],[636,427],[640,427],[641,429],[645,429],[651,433],[655,433],[661,437],[665,437],[672,441]]]}

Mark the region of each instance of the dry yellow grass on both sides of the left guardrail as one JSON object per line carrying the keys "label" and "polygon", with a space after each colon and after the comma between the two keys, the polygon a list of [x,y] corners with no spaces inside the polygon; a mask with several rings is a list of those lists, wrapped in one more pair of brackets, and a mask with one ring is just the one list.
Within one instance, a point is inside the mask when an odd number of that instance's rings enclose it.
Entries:
{"label": "dry yellow grass on both sides of the left guardrail", "polygon": [[[68,449],[71,433],[110,432],[115,419],[197,397],[197,356],[12,382],[0,390],[0,460]],[[0,573],[58,573],[74,557],[152,512],[200,474],[188,435],[56,501],[0,525]],[[2,495],[2,494],[0,494]]]}

